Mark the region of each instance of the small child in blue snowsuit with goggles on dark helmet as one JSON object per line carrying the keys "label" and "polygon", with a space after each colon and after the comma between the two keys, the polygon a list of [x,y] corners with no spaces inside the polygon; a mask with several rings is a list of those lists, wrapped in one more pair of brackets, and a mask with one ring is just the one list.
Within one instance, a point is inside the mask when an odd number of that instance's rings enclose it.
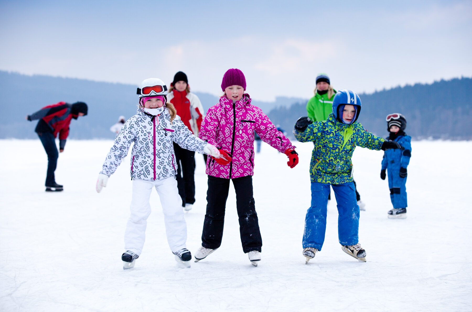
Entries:
{"label": "small child in blue snowsuit with goggles on dark helmet", "polygon": [[387,116],[389,140],[398,142],[404,150],[384,152],[380,178],[385,180],[385,170],[388,170],[388,187],[393,209],[388,211],[388,218],[406,218],[406,167],[412,155],[411,136],[405,134],[406,119],[402,114],[394,113]]}

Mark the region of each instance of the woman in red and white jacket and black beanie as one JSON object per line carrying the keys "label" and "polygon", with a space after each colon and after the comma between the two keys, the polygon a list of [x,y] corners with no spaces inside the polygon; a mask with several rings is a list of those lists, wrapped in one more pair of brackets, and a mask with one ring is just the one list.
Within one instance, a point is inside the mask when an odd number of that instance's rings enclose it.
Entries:
{"label": "woman in red and white jacket and black beanie", "polygon": [[[177,72],[170,84],[168,101],[177,110],[177,115],[192,133],[198,137],[200,126],[204,117],[200,99],[190,92],[187,75]],[[192,209],[195,202],[195,152],[181,148],[174,143],[174,151],[177,158],[177,187],[182,206],[185,210]],[[206,163],[206,155],[203,155]]]}

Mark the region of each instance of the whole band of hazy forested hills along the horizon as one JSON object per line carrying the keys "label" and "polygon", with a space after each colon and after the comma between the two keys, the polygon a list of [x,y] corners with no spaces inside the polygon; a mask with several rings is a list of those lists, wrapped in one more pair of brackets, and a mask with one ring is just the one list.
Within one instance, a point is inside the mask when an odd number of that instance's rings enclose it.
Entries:
{"label": "whole band of hazy forested hills along the horizon", "polygon": [[[369,131],[385,136],[385,116],[399,112],[407,118],[406,132],[415,138],[471,139],[471,93],[472,79],[461,78],[360,94],[359,121]],[[218,102],[218,96],[195,94],[205,111]],[[25,116],[59,101],[89,105],[86,117],[72,121],[71,138],[112,138],[109,129],[118,116],[129,118],[136,112],[136,85],[0,71],[0,138],[36,138],[37,122],[28,122]],[[307,101],[277,97],[272,102],[253,100],[253,104],[291,134],[296,119],[306,115]]]}

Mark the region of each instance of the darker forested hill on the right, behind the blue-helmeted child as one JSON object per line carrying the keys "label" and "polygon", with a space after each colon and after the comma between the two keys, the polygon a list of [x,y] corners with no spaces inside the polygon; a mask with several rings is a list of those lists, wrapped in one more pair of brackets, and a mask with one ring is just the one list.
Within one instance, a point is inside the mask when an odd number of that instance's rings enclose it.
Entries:
{"label": "darker forested hill on the right, behind the blue-helmeted child", "polygon": [[[369,131],[388,135],[385,117],[401,113],[407,120],[406,133],[416,139],[472,139],[472,79],[455,78],[433,84],[414,84],[359,94],[362,112],[358,121]],[[279,107],[268,114],[288,133],[295,121],[306,116],[306,101]]]}

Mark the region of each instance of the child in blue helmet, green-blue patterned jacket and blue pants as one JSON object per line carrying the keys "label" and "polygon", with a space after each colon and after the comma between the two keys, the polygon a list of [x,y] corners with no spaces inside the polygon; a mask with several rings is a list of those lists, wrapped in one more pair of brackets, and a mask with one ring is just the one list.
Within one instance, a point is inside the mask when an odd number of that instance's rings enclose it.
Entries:
{"label": "child in blue helmet, green-blue patterned jacket and blue pants", "polygon": [[328,119],[312,122],[308,117],[301,117],[295,124],[295,138],[300,142],[314,143],[310,163],[312,202],[306,212],[302,242],[306,262],[321,250],[324,243],[330,186],[336,196],[342,250],[365,261],[366,252],[359,244],[359,206],[351,158],[356,146],[385,151],[400,148],[400,145],[367,132],[356,122],[360,112],[359,95],[351,90],[340,90],[334,96]]}

